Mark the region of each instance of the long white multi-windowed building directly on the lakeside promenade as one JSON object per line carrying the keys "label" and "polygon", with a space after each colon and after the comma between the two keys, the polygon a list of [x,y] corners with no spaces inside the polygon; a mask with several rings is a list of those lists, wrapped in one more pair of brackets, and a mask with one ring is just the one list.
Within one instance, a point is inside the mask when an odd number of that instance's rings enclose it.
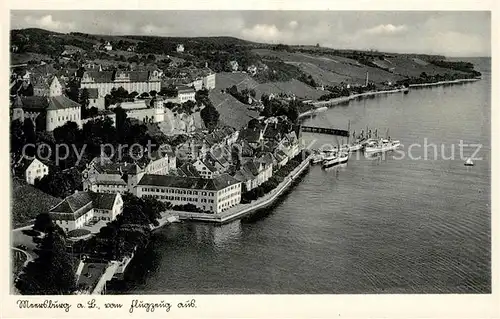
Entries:
{"label": "long white multi-windowed building directly on the lakeside promenade", "polygon": [[240,203],[241,182],[228,174],[211,179],[148,174],[139,181],[135,195],[218,214]]}

